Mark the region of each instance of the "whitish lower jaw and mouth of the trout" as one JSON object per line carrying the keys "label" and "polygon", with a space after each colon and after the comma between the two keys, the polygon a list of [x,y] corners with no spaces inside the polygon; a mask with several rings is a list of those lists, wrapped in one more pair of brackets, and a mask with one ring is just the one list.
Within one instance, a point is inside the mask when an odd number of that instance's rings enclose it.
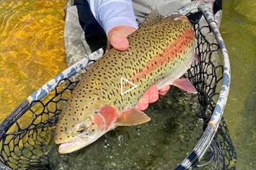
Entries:
{"label": "whitish lower jaw and mouth of the trout", "polygon": [[71,152],[77,151],[79,149],[82,149],[82,148],[90,145],[92,142],[99,139],[100,137],[101,137],[101,135],[99,135],[98,137],[95,137],[93,139],[86,138],[83,140],[61,143],[59,146],[59,153],[60,154],[69,154]]}

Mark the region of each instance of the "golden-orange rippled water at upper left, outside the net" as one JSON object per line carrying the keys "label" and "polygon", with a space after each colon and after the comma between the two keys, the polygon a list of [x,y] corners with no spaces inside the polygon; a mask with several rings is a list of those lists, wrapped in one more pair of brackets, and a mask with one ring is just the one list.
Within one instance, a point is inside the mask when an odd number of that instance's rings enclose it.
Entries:
{"label": "golden-orange rippled water at upper left, outside the net", "polygon": [[65,69],[65,1],[0,0],[0,121]]}

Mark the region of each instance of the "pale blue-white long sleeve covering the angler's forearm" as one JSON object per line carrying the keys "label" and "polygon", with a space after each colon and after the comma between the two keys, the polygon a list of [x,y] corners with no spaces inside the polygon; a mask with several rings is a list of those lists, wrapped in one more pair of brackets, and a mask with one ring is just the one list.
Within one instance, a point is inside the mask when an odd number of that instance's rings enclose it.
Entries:
{"label": "pale blue-white long sleeve covering the angler's forearm", "polygon": [[106,33],[118,25],[138,28],[131,0],[87,0],[95,19]]}

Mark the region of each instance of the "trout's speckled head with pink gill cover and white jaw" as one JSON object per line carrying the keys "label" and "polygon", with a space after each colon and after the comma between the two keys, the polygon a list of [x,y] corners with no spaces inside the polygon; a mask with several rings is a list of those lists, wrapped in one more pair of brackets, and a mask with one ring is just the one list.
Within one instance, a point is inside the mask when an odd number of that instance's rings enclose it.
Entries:
{"label": "trout's speckled head with pink gill cover and white jaw", "polygon": [[[107,131],[114,128],[118,112],[115,106],[96,102],[83,113],[73,113],[67,107],[55,130],[55,143],[60,144],[60,154],[67,154],[90,145]],[[78,111],[80,111],[78,109]]]}

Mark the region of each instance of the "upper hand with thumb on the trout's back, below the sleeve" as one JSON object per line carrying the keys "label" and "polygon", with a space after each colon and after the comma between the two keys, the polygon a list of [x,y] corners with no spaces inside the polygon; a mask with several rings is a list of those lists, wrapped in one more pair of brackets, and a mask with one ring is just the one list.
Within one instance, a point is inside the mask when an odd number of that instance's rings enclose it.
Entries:
{"label": "upper hand with thumb on the trout's back, below the sleeve", "polygon": [[129,36],[136,29],[128,25],[118,25],[108,31],[108,45],[107,49],[113,46],[119,51],[124,51],[129,47],[127,36]]}

